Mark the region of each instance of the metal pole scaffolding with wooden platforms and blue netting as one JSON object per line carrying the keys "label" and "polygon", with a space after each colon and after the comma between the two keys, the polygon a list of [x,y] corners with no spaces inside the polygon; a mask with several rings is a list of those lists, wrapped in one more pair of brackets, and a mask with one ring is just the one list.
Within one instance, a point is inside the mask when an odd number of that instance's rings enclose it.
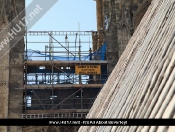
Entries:
{"label": "metal pole scaffolding with wooden platforms and blue netting", "polygon": [[[91,50],[94,40],[90,38],[98,34],[94,31],[26,34],[22,118],[85,117],[108,77],[106,43],[96,51]],[[41,37],[41,41],[34,37]],[[40,44],[43,51],[28,49]]]}

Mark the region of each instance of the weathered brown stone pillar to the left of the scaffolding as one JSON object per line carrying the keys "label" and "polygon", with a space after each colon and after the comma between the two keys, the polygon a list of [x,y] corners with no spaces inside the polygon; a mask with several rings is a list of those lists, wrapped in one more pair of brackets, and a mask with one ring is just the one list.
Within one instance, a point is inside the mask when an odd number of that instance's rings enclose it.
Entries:
{"label": "weathered brown stone pillar to the left of the scaffolding", "polygon": [[[2,31],[25,7],[25,0],[0,0],[0,31]],[[14,24],[16,24],[14,22]],[[9,37],[8,32],[12,28],[0,34],[0,40]],[[24,32],[24,29],[23,31]],[[9,37],[10,38],[10,37]],[[20,118],[22,113],[23,92],[15,88],[23,87],[23,38],[14,45],[13,41],[7,43],[0,51],[0,118]],[[0,132],[20,132],[22,127],[0,127]]]}

